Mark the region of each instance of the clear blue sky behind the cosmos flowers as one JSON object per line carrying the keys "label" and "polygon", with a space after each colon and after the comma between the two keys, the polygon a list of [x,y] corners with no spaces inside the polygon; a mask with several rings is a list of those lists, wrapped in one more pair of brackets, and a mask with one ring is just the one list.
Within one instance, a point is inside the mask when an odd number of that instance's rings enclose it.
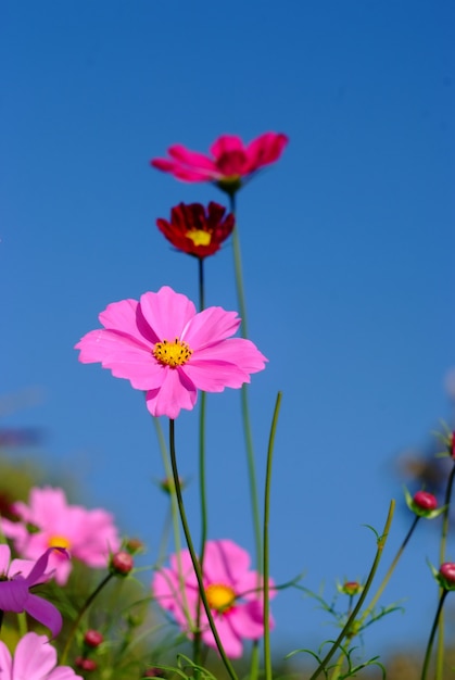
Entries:
{"label": "clear blue sky behind the cosmos flowers", "polygon": [[[8,426],[48,433],[43,459],[156,550],[165,500],[142,395],[73,350],[110,302],[167,284],[195,299],[192,259],[155,228],[208,185],[153,171],[175,142],[290,138],[239,196],[249,327],[268,356],[250,390],[260,480],[277,390],[271,574],[305,585],[364,577],[401,499],[396,459],[452,417],[454,50],[450,2],[137,0],[1,9],[1,391],[37,388]],[[229,243],[207,303],[237,307]],[[239,393],[208,399],[211,538],[252,550]],[[178,419],[198,534],[197,413]],[[386,568],[407,530],[397,512]],[[435,532],[420,527],[371,629],[384,653],[426,639]],[[455,559],[455,542],[448,556]],[[298,593],[274,602],[286,650],[331,637]],[[426,621],[427,625],[422,625]]]}

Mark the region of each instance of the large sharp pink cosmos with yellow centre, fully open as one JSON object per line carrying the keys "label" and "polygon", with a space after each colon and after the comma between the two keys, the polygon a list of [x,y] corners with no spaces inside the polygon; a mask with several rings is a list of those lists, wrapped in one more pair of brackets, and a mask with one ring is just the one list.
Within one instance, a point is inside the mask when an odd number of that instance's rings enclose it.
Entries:
{"label": "large sharp pink cosmos with yellow centre, fully open", "polygon": [[181,408],[193,408],[198,390],[240,388],[267,361],[250,340],[230,338],[240,326],[236,312],[197,313],[186,295],[167,286],[139,302],[114,302],[99,319],[104,330],[92,330],[76,344],[79,361],[101,362],[144,390],[153,416],[176,418]]}

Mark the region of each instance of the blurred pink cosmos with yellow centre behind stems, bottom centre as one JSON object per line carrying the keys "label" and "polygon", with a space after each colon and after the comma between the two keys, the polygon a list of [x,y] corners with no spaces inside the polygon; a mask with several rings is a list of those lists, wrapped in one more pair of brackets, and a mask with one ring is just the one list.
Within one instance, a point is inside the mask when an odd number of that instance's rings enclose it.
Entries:
{"label": "blurred pink cosmos with yellow centre behind stems, bottom centre", "polygon": [[[198,608],[198,581],[187,550],[177,555],[170,567],[157,571],[152,591],[159,604],[170,612],[190,638],[194,633]],[[204,554],[204,590],[227,656],[242,654],[242,640],[258,640],[264,634],[263,594],[257,591],[260,577],[250,569],[250,555],[232,541],[208,541]],[[182,583],[182,587],[181,587]],[[270,596],[275,594],[269,581]],[[269,627],[274,626],[270,617]],[[204,609],[201,612],[202,640],[216,648]]]}

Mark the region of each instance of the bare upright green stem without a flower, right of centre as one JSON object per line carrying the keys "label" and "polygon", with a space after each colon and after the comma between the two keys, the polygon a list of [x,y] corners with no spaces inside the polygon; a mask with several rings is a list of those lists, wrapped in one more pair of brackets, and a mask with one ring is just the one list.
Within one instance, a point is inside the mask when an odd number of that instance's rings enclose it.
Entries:
{"label": "bare upright green stem without a flower, right of centre", "polygon": [[264,668],[265,680],[271,680],[271,654],[270,654],[270,629],[269,629],[269,536],[268,536],[268,522],[270,516],[270,487],[271,487],[271,463],[274,457],[275,435],[278,425],[278,415],[281,405],[282,393],[278,392],[277,400],[275,402],[274,417],[271,419],[270,435],[268,438],[267,450],[267,467],[265,475],[265,493],[264,493],[264,584],[263,584],[263,597],[264,597]]}

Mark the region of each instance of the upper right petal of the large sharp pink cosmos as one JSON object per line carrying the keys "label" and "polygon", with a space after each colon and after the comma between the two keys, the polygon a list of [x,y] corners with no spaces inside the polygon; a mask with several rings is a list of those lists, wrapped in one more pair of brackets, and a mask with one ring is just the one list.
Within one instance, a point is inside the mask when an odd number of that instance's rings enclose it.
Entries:
{"label": "upper right petal of the large sharp pink cosmos", "polygon": [[181,339],[188,342],[193,351],[200,351],[233,336],[240,323],[237,312],[226,312],[223,307],[207,307],[190,320]]}

